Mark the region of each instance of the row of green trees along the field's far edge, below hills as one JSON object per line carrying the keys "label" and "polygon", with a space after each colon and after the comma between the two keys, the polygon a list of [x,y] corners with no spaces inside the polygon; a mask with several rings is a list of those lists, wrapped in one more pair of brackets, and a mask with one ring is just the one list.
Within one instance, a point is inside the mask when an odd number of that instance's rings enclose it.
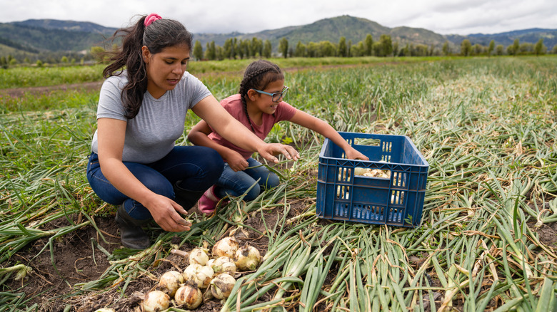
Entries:
{"label": "row of green trees along the field's far edge, below hills", "polygon": [[[101,47],[92,47],[91,52],[79,54],[75,52],[64,55],[62,53],[42,54],[39,56],[23,55],[23,59],[14,56],[0,57],[0,67],[7,68],[15,66],[18,63],[42,66],[44,63],[49,64],[75,64],[77,62],[84,64],[94,60],[98,50],[104,51]],[[341,37],[338,43],[331,41],[319,41],[302,43],[298,41],[296,45],[291,45],[287,38],[281,38],[277,47],[276,56],[288,57],[355,57],[355,56],[502,56],[502,55],[541,55],[545,53],[557,53],[557,45],[553,46],[551,51],[543,45],[543,39],[537,43],[520,43],[518,39],[509,45],[495,45],[495,41],[491,41],[488,46],[479,43],[474,45],[468,39],[464,39],[460,46],[460,51],[452,51],[451,45],[446,41],[441,49],[436,46],[426,46],[424,44],[406,43],[401,46],[397,41],[393,42],[391,36],[381,35],[378,41],[373,40],[373,36],[368,34],[366,38],[358,43],[353,44],[351,40],[346,41],[345,37]],[[271,58],[274,56],[273,46],[269,40],[261,40],[260,38],[241,39],[229,38],[224,42],[223,46],[218,46],[214,41],[206,43],[205,48],[200,41],[194,43],[192,56],[197,60],[224,60],[236,58]],[[79,60],[79,61],[77,61]]]}

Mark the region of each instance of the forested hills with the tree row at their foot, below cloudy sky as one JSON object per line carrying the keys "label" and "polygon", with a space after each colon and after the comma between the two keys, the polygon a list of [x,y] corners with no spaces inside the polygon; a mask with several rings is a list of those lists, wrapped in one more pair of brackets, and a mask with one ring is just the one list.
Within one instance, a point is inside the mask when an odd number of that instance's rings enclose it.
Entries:
{"label": "forested hills with the tree row at their foot, below cloudy sky", "polygon": [[[116,28],[91,22],[30,19],[0,23],[0,66],[94,62],[92,47]],[[424,28],[388,28],[354,16],[321,19],[257,33],[194,33],[196,59],[244,57],[433,56],[556,53],[557,29],[441,35]],[[97,50],[99,48],[96,48]]]}

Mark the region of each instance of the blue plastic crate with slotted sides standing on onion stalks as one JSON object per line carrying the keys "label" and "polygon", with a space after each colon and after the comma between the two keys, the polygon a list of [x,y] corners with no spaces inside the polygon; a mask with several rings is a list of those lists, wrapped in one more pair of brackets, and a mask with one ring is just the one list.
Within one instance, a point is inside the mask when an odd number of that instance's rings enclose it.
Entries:
{"label": "blue plastic crate with slotted sides standing on onion stalks", "polygon": [[[319,153],[318,217],[417,227],[429,164],[413,142],[405,135],[339,133],[369,161],[348,160],[341,147],[325,140]],[[388,177],[361,175],[367,168],[382,170]]]}

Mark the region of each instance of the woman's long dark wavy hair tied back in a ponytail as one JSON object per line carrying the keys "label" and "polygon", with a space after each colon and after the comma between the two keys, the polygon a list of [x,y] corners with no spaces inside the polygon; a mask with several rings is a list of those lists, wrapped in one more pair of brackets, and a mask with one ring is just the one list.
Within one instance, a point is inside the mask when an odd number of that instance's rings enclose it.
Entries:
{"label": "woman's long dark wavy hair tied back in a ponytail", "polygon": [[161,52],[169,46],[186,44],[191,50],[192,35],[179,21],[159,19],[149,26],[144,26],[146,16],[141,16],[133,26],[120,28],[109,38],[115,41],[121,38],[121,48],[109,53],[109,66],[103,71],[103,77],[119,76],[124,68],[128,83],[122,90],[122,102],[126,108],[126,118],[132,119],[139,113],[143,95],[147,90],[147,72],[141,53],[141,47],[149,48],[151,54]]}

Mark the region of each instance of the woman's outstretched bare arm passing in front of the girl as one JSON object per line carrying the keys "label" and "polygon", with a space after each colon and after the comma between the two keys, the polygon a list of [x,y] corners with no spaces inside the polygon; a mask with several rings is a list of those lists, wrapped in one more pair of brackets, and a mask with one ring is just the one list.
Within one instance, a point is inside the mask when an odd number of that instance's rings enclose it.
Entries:
{"label": "woman's outstretched bare arm passing in front of the girl", "polygon": [[238,120],[232,117],[213,95],[209,95],[199,101],[191,110],[201,117],[201,119],[205,120],[206,123],[211,125],[222,137],[244,150],[259,152],[261,157],[271,162],[278,162],[278,159],[274,157],[274,155],[277,154],[283,154],[289,160],[298,160],[298,152],[296,152],[293,147],[278,143],[269,144],[264,142],[257,137],[254,132],[251,132]]}

